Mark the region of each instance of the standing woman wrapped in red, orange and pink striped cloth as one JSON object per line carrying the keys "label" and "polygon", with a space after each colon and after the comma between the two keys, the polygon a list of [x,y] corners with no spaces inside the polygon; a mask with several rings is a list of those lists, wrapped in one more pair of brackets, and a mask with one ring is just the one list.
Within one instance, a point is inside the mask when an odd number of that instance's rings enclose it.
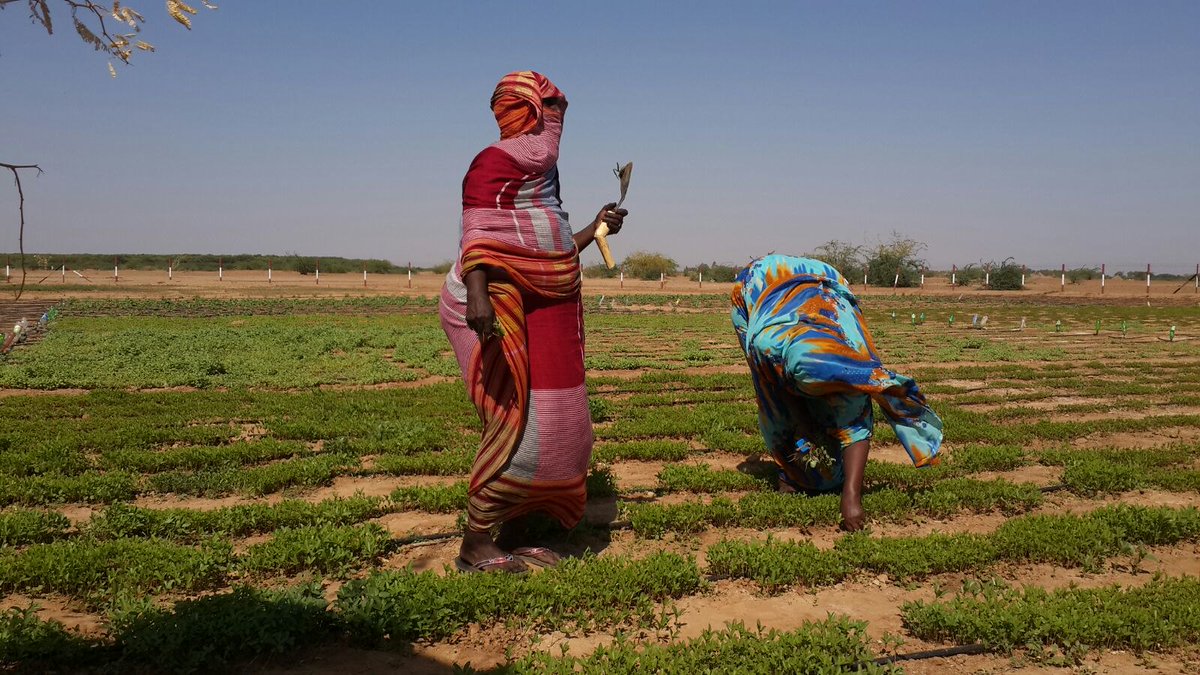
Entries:
{"label": "standing woman wrapped in red, orange and pink striped cloth", "polygon": [[[504,76],[492,112],[500,141],[475,156],[462,181],[460,255],[440,303],[484,425],[455,565],[522,572],[526,562],[559,560],[521,540],[522,516],[544,512],[564,527],[583,516],[593,435],[578,253],[600,222],[619,232],[628,211],[607,204],[571,232],[557,166],[566,97],[545,76]],[[492,538],[497,528],[510,550]]]}

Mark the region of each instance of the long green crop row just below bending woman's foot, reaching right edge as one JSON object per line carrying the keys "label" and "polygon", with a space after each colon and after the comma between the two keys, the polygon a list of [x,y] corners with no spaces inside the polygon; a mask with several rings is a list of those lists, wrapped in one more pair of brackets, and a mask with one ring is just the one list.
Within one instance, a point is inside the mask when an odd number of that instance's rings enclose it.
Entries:
{"label": "long green crop row just below bending woman's foot, reaching right edge", "polygon": [[1200,537],[1200,510],[1114,506],[1087,515],[1032,515],[990,534],[871,538],[851,534],[822,551],[808,542],[724,540],[708,549],[714,574],[746,578],[778,592],[792,585],[835,584],[858,571],[916,579],[972,572],[998,561],[1052,562],[1097,569],[1136,546]]}

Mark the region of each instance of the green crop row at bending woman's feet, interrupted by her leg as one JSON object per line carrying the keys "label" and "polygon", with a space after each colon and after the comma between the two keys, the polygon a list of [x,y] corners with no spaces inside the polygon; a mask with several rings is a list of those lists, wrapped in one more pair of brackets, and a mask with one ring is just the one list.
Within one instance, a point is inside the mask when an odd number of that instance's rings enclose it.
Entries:
{"label": "green crop row at bending woman's feet, interrupted by her leg", "polygon": [[[1024,513],[1042,503],[1036,485],[1016,485],[1007,480],[971,480],[953,478],[924,491],[880,489],[863,496],[863,508],[871,518],[901,520],[913,514],[947,516],[960,510],[977,513],[1000,509]],[[708,527],[808,527],[834,525],[841,518],[838,495],[803,497],[778,492],[751,492],[731,501],[679,504],[624,504],[630,524],[641,537],[658,538],[667,532],[695,533]]]}

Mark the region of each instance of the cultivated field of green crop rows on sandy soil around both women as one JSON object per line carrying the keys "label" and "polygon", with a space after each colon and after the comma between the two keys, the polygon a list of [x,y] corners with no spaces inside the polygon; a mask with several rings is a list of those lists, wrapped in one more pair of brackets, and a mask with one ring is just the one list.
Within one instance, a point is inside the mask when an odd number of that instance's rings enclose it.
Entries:
{"label": "cultivated field of green crop rows on sandy soil around both women", "polygon": [[[59,309],[0,360],[2,663],[1200,669],[1190,286],[863,293],[947,443],[918,471],[880,426],[847,536],[773,491],[727,286],[588,281],[587,522],[510,577],[445,571],[479,425],[434,276],[149,275],[0,304]],[[949,646],[977,653],[887,662]]]}

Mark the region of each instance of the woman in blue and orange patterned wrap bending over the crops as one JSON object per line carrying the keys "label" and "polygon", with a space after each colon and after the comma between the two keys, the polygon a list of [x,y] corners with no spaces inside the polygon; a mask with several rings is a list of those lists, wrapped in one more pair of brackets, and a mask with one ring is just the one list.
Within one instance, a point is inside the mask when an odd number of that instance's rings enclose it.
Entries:
{"label": "woman in blue and orange patterned wrap bending over the crops", "polygon": [[738,274],[732,301],[780,490],[840,489],[842,526],[860,530],[871,401],[917,466],[938,462],[942,420],[912,378],[880,363],[858,300],[833,267],[791,256],[760,258]]}

